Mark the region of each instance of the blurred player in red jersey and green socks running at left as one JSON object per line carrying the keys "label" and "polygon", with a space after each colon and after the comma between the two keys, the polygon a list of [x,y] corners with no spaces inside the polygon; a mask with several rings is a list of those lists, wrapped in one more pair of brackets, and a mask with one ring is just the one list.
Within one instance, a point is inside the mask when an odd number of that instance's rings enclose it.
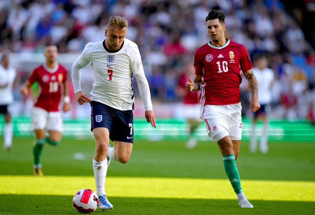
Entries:
{"label": "blurred player in red jersey and green socks running at left", "polygon": [[[23,85],[20,92],[28,95],[34,82],[40,87],[37,100],[32,108],[31,118],[35,133],[36,143],[33,147],[34,175],[43,175],[40,163],[43,145],[57,146],[60,144],[62,132],[62,118],[59,110],[61,101],[61,85],[63,86],[64,104],[63,111],[70,109],[68,96],[67,70],[56,62],[58,50],[55,45],[48,45],[44,56],[46,63],[35,68]],[[45,130],[49,136],[45,137]]]}

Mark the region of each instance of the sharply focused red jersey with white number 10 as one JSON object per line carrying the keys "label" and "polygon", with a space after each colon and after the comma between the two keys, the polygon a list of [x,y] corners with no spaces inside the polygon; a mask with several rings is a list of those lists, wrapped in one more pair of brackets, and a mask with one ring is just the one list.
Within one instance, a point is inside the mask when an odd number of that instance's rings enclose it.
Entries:
{"label": "sharply focused red jersey with white number 10", "polygon": [[210,43],[197,49],[194,55],[196,75],[202,76],[200,103],[228,105],[240,102],[239,85],[242,71],[252,68],[248,53],[242,44],[226,40],[217,47]]}

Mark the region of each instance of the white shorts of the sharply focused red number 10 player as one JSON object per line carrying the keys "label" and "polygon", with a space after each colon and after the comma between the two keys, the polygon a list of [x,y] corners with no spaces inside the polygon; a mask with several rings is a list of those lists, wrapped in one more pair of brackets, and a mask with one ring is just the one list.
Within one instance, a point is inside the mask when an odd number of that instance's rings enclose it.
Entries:
{"label": "white shorts of the sharply focused red number 10 player", "polygon": [[218,142],[230,136],[232,140],[242,139],[242,106],[241,103],[231,105],[201,106],[200,116],[206,125],[211,141]]}

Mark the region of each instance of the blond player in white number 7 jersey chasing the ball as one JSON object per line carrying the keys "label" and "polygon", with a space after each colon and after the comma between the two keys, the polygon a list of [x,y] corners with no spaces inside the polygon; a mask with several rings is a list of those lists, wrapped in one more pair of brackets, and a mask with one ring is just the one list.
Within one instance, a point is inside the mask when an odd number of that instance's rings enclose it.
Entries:
{"label": "blond player in white number 7 jersey chasing the ball", "polygon": [[[109,18],[104,41],[88,43],[72,65],[74,93],[80,105],[91,104],[91,131],[96,150],[93,160],[96,193],[102,210],[112,209],[105,193],[105,177],[110,159],[127,163],[131,155],[134,127],[132,78],[137,78],[145,117],[156,128],[149,84],[146,80],[138,46],[125,38],[128,22],[122,17]],[[88,98],[81,90],[81,70],[91,62],[93,89]],[[110,148],[109,139],[114,142]],[[107,156],[106,156],[107,154]],[[107,157],[107,160],[106,160]]]}

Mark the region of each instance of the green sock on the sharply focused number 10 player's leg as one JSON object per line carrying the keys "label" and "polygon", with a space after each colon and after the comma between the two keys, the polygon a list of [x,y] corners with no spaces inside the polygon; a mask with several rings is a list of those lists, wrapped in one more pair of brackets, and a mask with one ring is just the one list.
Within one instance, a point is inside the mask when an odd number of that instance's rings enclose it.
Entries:
{"label": "green sock on the sharply focused number 10 player's leg", "polygon": [[228,154],[223,156],[223,164],[227,177],[229,178],[234,192],[239,194],[242,192],[241,179],[239,178],[238,169],[235,164],[235,155]]}

